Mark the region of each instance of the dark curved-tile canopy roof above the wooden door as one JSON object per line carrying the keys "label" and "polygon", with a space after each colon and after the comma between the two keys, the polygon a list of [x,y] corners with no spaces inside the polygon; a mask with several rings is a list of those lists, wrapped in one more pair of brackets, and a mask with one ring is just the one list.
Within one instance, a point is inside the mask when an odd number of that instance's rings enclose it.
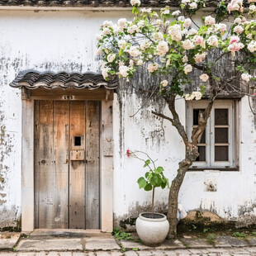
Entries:
{"label": "dark curved-tile canopy roof above the wooden door", "polygon": [[86,73],[67,73],[67,72],[39,72],[36,70],[26,70],[18,73],[10,86],[13,88],[89,88],[97,89],[104,87],[114,89],[118,85],[118,78],[115,77],[110,81],[106,81],[102,74],[94,72]]}

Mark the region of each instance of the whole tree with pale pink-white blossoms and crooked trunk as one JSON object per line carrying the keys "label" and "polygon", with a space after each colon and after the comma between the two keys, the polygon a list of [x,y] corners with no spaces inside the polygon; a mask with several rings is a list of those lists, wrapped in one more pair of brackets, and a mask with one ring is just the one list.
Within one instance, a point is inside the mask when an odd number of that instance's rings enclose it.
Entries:
{"label": "whole tree with pale pink-white blossoms and crooked trunk", "polygon": [[[256,0],[219,2],[198,25],[193,17],[206,7],[204,0],[182,0],[175,12],[169,7],[159,14],[151,8],[140,8],[140,0],[131,0],[133,21],[121,18],[117,24],[104,21],[102,34],[97,36],[102,55],[102,75],[111,79],[133,77],[147,69],[145,76],[156,75],[159,83],[154,92],[168,104],[170,116],[153,111],[154,115],[170,121],[183,139],[186,154],[179,163],[177,176],[170,187],[168,200],[169,237],[176,235],[178,192],[187,169],[198,157],[198,138],[206,128],[213,102],[218,93],[229,88],[255,95],[253,83],[256,64]],[[209,11],[210,12],[210,11]],[[228,67],[228,68],[227,68]],[[220,70],[230,69],[229,76]],[[197,71],[201,86],[189,92],[191,74]],[[225,73],[225,72],[224,72]],[[195,78],[194,78],[195,79]],[[234,85],[239,80],[246,90]],[[191,139],[184,129],[175,107],[175,100],[207,99],[205,111],[200,113],[199,124]]]}

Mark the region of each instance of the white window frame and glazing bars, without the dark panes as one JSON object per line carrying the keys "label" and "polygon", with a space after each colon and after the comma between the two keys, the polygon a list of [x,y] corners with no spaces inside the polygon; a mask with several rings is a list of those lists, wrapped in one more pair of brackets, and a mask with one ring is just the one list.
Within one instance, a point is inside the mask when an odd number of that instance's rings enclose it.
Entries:
{"label": "white window frame and glazing bars, without the dark panes", "polygon": [[[191,140],[192,129],[193,129],[193,109],[205,109],[206,101],[191,101],[187,102],[187,135],[189,140]],[[228,109],[228,126],[229,128],[229,161],[215,161],[215,110],[220,108]],[[211,110],[211,116],[207,121],[206,125],[206,161],[198,161],[192,164],[192,168],[237,168],[237,158],[236,154],[238,150],[236,149],[237,144],[235,140],[237,134],[235,132],[235,125],[237,125],[235,108],[237,106],[232,100],[216,100]],[[223,127],[223,126],[222,126]],[[220,144],[217,144],[220,145]]]}

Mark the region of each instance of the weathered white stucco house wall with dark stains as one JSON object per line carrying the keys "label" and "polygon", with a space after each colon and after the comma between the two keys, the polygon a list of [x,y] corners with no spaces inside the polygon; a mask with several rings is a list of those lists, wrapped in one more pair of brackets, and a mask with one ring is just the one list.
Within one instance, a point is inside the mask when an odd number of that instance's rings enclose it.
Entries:
{"label": "weathered white stucco house wall with dark stains", "polygon": [[[0,11],[0,228],[17,225],[21,215],[21,95],[8,86],[25,69],[68,72],[97,71],[94,40],[104,20],[117,20],[129,12],[89,11]],[[183,159],[183,143],[168,121],[146,107],[134,117],[143,98],[121,93],[115,97],[114,128],[114,214],[116,220],[137,216],[149,206],[151,193],[136,183],[144,170],[137,159],[126,157],[126,149],[143,150],[158,159],[171,180]],[[185,124],[185,102],[177,101]],[[164,106],[158,104],[161,109]],[[168,111],[166,111],[168,113]],[[256,131],[247,99],[240,102],[240,171],[187,173],[179,201],[185,210],[211,210],[239,220],[244,212],[256,215]],[[205,181],[216,183],[216,192],[205,191]],[[157,191],[158,208],[166,211],[168,190]],[[249,218],[249,217],[247,217]]]}

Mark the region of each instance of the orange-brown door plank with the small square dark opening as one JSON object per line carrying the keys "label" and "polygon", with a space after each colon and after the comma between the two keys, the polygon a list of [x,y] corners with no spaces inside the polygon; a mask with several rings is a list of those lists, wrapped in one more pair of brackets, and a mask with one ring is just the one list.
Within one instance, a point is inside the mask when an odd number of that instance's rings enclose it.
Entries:
{"label": "orange-brown door plank with the small square dark opening", "polygon": [[[69,228],[85,228],[85,102],[70,102],[70,154],[83,155],[69,162]],[[78,150],[78,151],[77,151]]]}

